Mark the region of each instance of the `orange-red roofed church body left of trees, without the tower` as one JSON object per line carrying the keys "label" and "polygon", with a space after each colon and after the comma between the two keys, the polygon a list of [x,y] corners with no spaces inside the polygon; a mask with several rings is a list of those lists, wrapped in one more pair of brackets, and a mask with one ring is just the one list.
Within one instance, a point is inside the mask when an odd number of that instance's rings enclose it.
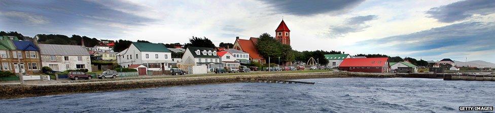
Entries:
{"label": "orange-red roofed church body left of trees, without the tower", "polygon": [[249,40],[239,39],[236,37],[234,42],[234,49],[249,53],[249,60],[252,62],[259,62],[261,64],[266,63],[265,59],[261,57],[256,44],[258,43],[258,38],[251,37]]}

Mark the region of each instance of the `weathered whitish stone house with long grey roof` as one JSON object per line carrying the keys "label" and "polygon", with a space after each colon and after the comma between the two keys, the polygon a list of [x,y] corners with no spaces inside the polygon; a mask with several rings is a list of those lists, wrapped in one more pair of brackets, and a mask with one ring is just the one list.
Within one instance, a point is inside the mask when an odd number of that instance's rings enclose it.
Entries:
{"label": "weathered whitish stone house with long grey roof", "polygon": [[53,71],[75,69],[91,70],[91,59],[88,50],[80,45],[38,44],[43,66]]}

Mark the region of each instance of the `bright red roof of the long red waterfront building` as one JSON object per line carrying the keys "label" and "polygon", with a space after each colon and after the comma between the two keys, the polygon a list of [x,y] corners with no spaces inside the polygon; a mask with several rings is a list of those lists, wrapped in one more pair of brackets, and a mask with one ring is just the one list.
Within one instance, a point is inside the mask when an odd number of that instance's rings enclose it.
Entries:
{"label": "bright red roof of the long red waterfront building", "polygon": [[388,58],[354,58],[344,59],[339,67],[383,67]]}

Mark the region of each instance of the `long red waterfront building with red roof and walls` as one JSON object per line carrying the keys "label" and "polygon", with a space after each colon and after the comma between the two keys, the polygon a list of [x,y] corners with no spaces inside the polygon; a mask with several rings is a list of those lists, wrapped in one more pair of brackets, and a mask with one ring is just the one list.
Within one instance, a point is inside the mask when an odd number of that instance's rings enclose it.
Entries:
{"label": "long red waterfront building with red roof and walls", "polygon": [[344,59],[339,70],[348,72],[387,73],[390,70],[388,58]]}

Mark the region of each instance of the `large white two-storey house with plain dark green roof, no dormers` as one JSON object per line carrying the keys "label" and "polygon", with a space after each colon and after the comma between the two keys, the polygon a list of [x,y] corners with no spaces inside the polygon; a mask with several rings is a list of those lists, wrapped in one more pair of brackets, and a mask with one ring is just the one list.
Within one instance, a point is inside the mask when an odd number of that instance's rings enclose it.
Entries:
{"label": "large white two-storey house with plain dark green roof, no dormers", "polygon": [[170,70],[168,64],[173,63],[170,50],[161,43],[132,42],[116,56],[117,63],[124,68],[143,65],[151,71],[164,71]]}

